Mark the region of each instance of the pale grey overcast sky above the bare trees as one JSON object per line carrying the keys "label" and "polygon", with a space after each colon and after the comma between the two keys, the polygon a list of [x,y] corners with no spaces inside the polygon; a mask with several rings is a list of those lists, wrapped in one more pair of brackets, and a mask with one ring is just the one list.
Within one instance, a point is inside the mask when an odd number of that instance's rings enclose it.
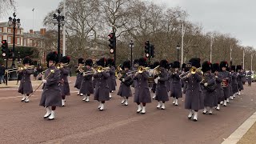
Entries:
{"label": "pale grey overcast sky above the bare trees", "polygon": [[[42,20],[62,0],[16,0],[17,16],[25,31],[42,28]],[[243,46],[256,48],[255,0],[148,0],[164,6],[180,6],[189,14],[191,22],[204,27],[204,31],[218,31],[238,38]],[[11,15],[10,13],[9,15]],[[9,15],[6,16],[6,21]],[[1,22],[5,19],[1,18]]]}

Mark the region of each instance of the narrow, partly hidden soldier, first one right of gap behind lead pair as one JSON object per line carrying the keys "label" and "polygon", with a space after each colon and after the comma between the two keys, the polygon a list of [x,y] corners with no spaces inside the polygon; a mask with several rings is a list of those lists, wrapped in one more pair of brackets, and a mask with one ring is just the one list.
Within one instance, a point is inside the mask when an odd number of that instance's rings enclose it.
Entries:
{"label": "narrow, partly hidden soldier, first one right of gap behind lead pair", "polygon": [[83,79],[82,77],[83,64],[84,64],[83,58],[78,58],[78,69],[75,71],[77,73],[77,79],[75,80],[75,83],[74,83],[74,87],[78,89],[78,95],[80,95],[80,87]]}

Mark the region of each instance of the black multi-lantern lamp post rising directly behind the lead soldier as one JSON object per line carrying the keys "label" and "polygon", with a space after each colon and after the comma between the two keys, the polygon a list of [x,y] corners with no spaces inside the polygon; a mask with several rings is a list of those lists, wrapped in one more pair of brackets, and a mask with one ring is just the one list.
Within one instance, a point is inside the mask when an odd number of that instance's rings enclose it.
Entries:
{"label": "black multi-lantern lamp post rising directly behind the lead soldier", "polygon": [[65,24],[65,17],[61,15],[61,11],[58,10],[58,15],[54,14],[54,25],[58,24],[58,61],[61,58],[60,44],[61,44],[61,26]]}

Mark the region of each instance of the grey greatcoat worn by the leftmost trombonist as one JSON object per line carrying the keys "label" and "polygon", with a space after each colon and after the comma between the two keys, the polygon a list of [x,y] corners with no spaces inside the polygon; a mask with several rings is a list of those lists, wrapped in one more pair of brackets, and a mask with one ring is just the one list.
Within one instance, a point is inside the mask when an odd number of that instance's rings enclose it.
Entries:
{"label": "grey greatcoat worn by the leftmost trombonist", "polygon": [[30,80],[30,75],[33,74],[33,70],[22,70],[19,72],[22,75],[21,84],[18,87],[18,93],[21,94],[32,94],[33,88]]}

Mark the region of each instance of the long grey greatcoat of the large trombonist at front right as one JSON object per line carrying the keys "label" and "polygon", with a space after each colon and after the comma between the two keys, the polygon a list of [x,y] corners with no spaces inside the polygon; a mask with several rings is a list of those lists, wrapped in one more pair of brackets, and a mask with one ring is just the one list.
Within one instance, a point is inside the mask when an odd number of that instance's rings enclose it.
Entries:
{"label": "long grey greatcoat of the large trombonist at front right", "polygon": [[202,76],[199,74],[191,74],[189,78],[184,78],[187,81],[185,109],[202,110],[204,108],[202,90],[200,82]]}

